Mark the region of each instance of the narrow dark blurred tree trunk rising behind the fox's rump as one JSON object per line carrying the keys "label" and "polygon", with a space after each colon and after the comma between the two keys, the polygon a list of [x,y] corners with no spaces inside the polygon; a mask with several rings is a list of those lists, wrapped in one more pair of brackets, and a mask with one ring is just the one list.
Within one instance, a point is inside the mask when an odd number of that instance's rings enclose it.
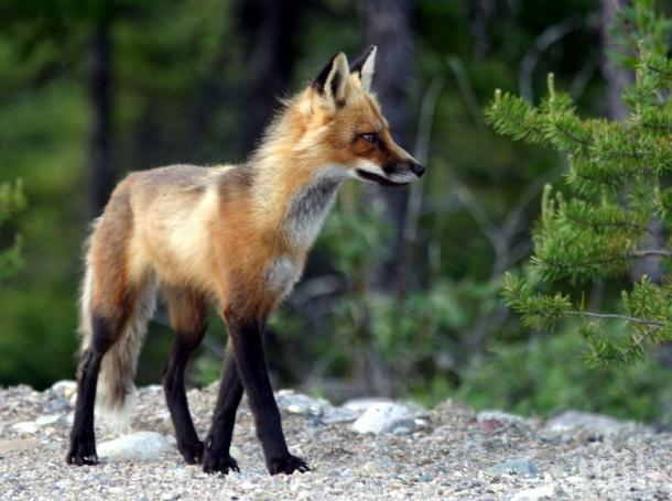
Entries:
{"label": "narrow dark blurred tree trunk rising behind the fox's rump", "polygon": [[91,137],[89,165],[91,210],[99,215],[112,189],[115,173],[111,161],[111,40],[106,21],[99,21],[91,40],[91,73],[89,98],[91,106]]}

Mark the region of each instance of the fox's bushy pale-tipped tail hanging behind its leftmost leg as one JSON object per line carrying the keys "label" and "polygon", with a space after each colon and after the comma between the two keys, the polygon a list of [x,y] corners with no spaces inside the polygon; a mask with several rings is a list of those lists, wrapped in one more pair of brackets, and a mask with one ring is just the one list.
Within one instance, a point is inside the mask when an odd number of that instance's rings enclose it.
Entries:
{"label": "fox's bushy pale-tipped tail hanging behind its leftmost leg", "polygon": [[[80,356],[93,339],[91,290],[94,270],[87,246],[86,272],[79,299]],[[102,357],[96,391],[96,414],[117,431],[130,424],[136,407],[136,385],[133,379],[138,357],[144,341],[147,323],[155,309],[156,291],[148,283],[138,296],[131,317],[123,327],[119,340]]]}

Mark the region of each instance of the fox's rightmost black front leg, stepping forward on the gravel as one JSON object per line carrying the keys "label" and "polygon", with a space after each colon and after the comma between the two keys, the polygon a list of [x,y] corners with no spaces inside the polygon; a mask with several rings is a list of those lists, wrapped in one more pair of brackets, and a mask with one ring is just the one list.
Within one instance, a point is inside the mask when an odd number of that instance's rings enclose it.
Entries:
{"label": "fox's rightmost black front leg, stepping forward on the gravel", "polygon": [[284,440],[280,411],[265,364],[262,323],[245,322],[232,314],[227,314],[226,320],[238,373],[254,415],[257,436],[261,440],[269,472],[290,475],[307,471],[308,466],[303,459],[290,454]]}

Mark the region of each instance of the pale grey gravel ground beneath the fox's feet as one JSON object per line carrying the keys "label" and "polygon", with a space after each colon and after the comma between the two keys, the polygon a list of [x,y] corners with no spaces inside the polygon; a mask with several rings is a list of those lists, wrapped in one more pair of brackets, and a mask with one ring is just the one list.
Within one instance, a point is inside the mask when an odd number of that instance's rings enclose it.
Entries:
{"label": "pale grey gravel ground beneath the fox's feet", "polygon": [[[172,447],[149,460],[101,458],[95,467],[72,467],[64,457],[73,391],[68,382],[44,392],[0,390],[0,499],[520,501],[672,495],[672,435],[646,426],[594,416],[584,416],[581,426],[572,416],[543,423],[498,412],[477,414],[447,401],[429,412],[413,409],[416,418],[394,433],[361,434],[343,407],[292,392],[280,393],[285,435],[311,472],[267,475],[245,403],[234,437],[240,473],[207,476],[183,464]],[[188,397],[196,428],[205,434],[216,388],[192,390]],[[140,390],[132,428],[158,432],[174,443],[159,386]],[[98,425],[99,453],[101,443],[116,436]]]}

